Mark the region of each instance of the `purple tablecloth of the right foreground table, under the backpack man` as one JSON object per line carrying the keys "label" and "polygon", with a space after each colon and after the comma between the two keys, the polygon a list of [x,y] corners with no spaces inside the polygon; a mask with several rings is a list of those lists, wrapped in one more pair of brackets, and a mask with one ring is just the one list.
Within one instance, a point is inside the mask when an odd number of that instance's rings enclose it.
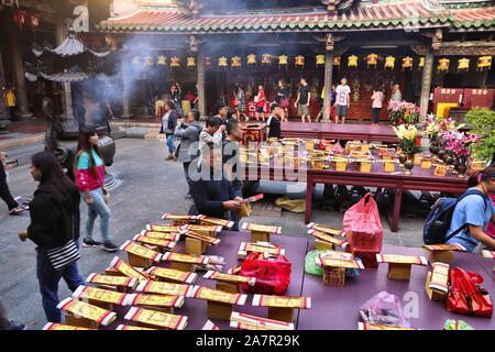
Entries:
{"label": "purple tablecloth of the right foreground table, under the backpack man", "polygon": [[[310,244],[310,249],[314,245]],[[385,245],[383,253],[425,255],[422,249],[408,249]],[[484,287],[495,295],[495,282],[490,277],[477,261],[479,254],[455,253],[452,265],[466,271],[477,272],[485,278]],[[413,328],[437,330],[443,329],[447,319],[461,319],[475,329],[495,329],[494,318],[477,318],[451,314],[446,304],[431,301],[425,292],[427,274],[426,266],[413,266],[409,282],[395,280],[387,277],[388,264],[378,264],[377,270],[363,270],[361,276],[348,279],[344,287],[323,285],[321,277],[305,275],[302,296],[312,299],[312,308],[299,312],[298,329],[300,330],[355,330],[358,329],[359,307],[374,295],[386,290],[402,299],[403,308],[413,312],[409,319]],[[408,308],[410,307],[410,308]],[[417,314],[414,312],[417,311]]]}

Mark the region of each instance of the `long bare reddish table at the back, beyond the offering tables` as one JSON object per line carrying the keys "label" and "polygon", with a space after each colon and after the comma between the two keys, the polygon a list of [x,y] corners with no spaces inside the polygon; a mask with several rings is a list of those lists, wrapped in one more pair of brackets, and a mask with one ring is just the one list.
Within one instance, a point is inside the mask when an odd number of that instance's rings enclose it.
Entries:
{"label": "long bare reddish table at the back, beyond the offering tables", "polygon": [[282,123],[283,138],[342,140],[397,143],[397,135],[389,125],[353,123]]}

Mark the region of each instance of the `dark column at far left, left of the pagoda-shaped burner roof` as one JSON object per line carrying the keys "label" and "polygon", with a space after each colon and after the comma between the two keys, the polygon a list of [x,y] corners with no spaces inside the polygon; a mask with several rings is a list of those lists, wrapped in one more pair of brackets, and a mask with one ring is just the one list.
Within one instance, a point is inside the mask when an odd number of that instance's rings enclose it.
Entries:
{"label": "dark column at far left, left of the pagoda-shaped burner roof", "polygon": [[29,109],[28,92],[25,90],[24,66],[21,52],[21,33],[13,23],[7,24],[7,36],[9,37],[10,65],[12,68],[13,84],[15,87],[15,116],[21,119],[32,118],[33,113]]}

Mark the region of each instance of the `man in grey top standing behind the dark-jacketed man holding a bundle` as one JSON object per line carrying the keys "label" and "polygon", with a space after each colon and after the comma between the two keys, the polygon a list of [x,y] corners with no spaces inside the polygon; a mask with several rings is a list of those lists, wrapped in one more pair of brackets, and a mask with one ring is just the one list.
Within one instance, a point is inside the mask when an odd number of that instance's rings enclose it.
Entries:
{"label": "man in grey top standing behind the dark-jacketed man holding a bundle", "polygon": [[[234,198],[242,199],[242,180],[238,175],[239,165],[239,141],[242,140],[241,127],[238,120],[230,120],[227,123],[227,139],[222,144],[223,172],[226,178],[231,183]],[[234,222],[232,231],[239,231],[241,218],[235,211],[230,212],[230,219]]]}

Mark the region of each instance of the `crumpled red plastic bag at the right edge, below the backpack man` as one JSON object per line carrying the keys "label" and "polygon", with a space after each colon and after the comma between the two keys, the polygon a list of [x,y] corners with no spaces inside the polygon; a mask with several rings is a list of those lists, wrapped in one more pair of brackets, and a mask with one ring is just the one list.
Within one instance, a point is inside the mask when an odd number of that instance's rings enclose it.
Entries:
{"label": "crumpled red plastic bag at the right edge, below the backpack man", "polygon": [[461,315],[491,318],[493,304],[490,294],[483,289],[483,276],[460,267],[450,271],[450,289],[447,309]]}

